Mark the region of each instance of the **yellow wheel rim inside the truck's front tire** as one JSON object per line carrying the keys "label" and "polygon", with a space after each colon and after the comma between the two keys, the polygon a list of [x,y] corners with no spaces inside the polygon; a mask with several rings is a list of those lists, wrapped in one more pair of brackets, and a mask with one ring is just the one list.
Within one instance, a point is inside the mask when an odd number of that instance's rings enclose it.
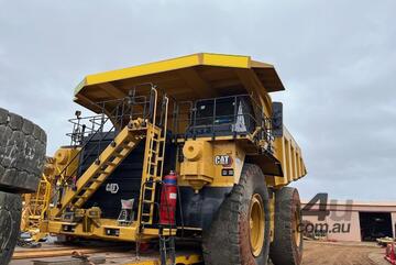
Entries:
{"label": "yellow wheel rim inside the truck's front tire", "polygon": [[265,231],[264,205],[260,195],[253,195],[249,212],[251,250],[254,256],[258,256],[263,250]]}

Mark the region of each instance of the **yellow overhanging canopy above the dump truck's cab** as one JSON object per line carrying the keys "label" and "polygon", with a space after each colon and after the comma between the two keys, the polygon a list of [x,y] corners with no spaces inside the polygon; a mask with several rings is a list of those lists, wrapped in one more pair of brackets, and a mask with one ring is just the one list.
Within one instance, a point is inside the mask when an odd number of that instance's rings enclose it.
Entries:
{"label": "yellow overhanging canopy above the dump truck's cab", "polygon": [[250,56],[200,53],[88,75],[75,89],[75,101],[99,111],[92,102],[123,98],[144,82],[155,84],[176,100],[216,97],[224,90],[231,95],[254,92],[267,110],[267,92],[284,90],[273,65]]}

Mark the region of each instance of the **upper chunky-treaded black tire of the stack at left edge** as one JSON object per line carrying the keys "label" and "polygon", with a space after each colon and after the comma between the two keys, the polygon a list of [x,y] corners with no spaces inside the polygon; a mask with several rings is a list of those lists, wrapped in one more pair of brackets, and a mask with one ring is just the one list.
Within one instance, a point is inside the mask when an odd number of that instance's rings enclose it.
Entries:
{"label": "upper chunky-treaded black tire of the stack at left edge", "polygon": [[36,191],[45,148],[46,134],[40,126],[0,108],[0,190]]}

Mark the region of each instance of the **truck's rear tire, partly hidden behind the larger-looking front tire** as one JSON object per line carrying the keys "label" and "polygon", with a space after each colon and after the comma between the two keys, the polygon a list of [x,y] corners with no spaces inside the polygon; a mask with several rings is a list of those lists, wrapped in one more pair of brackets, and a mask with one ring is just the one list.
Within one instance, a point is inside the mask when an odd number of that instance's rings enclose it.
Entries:
{"label": "truck's rear tire, partly hidden behind the larger-looking front tire", "polygon": [[284,187],[275,192],[275,240],[270,257],[274,265],[302,263],[302,216],[298,190]]}

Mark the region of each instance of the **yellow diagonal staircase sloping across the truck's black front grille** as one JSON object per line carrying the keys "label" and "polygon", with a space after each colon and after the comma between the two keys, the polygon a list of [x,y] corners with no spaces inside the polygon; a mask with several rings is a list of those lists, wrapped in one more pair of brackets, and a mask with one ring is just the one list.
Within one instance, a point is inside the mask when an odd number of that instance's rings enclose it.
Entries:
{"label": "yellow diagonal staircase sloping across the truck's black front grille", "polygon": [[[139,124],[139,122],[132,121],[131,124]],[[125,126],[98,159],[88,167],[77,180],[76,189],[66,187],[65,195],[62,197],[62,207],[53,211],[56,217],[59,217],[66,207],[80,208],[145,136],[144,128],[132,125]]]}

